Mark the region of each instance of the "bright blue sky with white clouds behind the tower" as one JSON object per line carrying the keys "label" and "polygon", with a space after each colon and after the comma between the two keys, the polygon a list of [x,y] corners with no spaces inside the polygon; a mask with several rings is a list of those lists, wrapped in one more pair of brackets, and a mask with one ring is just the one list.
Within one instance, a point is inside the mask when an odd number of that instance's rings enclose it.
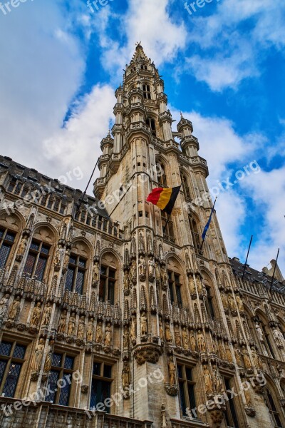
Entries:
{"label": "bright blue sky with white clouds behind the tower", "polygon": [[237,181],[216,205],[229,256],[244,261],[254,235],[249,264],[268,265],[280,247],[285,276],[285,5],[213,0],[190,15],[183,0],[101,3],[0,9],[1,154],[53,178],[80,167],[84,178],[68,184],[84,189],[141,41],[172,116],[193,123],[209,187]]}

